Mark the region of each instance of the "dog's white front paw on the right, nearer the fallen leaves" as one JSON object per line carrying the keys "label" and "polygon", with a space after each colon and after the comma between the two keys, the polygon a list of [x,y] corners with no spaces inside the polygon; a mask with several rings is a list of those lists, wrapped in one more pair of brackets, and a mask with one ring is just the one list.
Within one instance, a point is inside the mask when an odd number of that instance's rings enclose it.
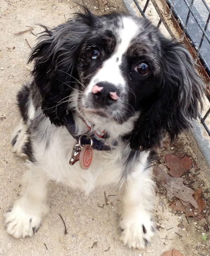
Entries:
{"label": "dog's white front paw on the right, nearer the fallen leaves", "polygon": [[145,248],[155,232],[151,213],[122,214],[120,219],[121,240],[129,248]]}

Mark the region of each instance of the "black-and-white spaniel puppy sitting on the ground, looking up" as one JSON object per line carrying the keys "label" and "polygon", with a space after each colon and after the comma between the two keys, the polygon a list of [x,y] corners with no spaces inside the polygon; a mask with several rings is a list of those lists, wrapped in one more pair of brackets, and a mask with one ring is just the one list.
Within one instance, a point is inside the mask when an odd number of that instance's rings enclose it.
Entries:
{"label": "black-and-white spaniel puppy sitting on the ground, looking up", "polygon": [[41,38],[29,58],[32,83],[18,93],[12,146],[29,171],[5,215],[7,231],[37,231],[50,179],[86,194],[118,183],[121,240],[144,248],[154,233],[150,149],[189,128],[202,106],[193,60],[146,19],[86,8]]}

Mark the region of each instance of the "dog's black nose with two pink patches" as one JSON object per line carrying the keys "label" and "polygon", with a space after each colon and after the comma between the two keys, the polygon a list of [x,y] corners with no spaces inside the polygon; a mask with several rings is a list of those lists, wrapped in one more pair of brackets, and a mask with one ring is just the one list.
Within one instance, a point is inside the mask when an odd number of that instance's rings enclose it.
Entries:
{"label": "dog's black nose with two pink patches", "polygon": [[113,104],[120,97],[118,88],[112,83],[100,82],[92,87],[92,94],[95,102],[101,107]]}

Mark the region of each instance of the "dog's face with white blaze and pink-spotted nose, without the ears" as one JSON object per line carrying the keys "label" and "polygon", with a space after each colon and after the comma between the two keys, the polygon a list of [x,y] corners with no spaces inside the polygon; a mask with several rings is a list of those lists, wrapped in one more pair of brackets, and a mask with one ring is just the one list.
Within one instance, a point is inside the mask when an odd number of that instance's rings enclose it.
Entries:
{"label": "dog's face with white blaze and pink-spotted nose, without the ears", "polygon": [[79,108],[90,120],[123,123],[159,94],[159,34],[147,21],[129,16],[106,16],[97,26],[76,61],[84,85]]}

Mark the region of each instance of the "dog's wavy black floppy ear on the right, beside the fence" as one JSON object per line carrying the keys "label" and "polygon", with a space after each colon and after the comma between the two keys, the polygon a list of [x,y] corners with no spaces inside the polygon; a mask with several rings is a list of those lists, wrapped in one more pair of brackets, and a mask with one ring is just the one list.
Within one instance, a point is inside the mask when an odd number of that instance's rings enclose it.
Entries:
{"label": "dog's wavy black floppy ear on the right, beside the fence", "polygon": [[204,85],[194,69],[189,52],[180,44],[163,38],[162,57],[157,75],[160,91],[155,103],[142,109],[130,139],[139,150],[159,145],[167,132],[170,139],[192,126],[202,109]]}

